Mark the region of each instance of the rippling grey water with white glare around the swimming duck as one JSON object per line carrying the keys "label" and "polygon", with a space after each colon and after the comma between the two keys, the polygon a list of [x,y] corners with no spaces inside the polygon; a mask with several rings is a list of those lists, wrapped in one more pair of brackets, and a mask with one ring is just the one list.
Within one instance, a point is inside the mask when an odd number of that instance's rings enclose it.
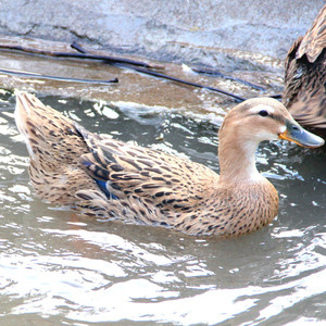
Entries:
{"label": "rippling grey water with white glare around the swimming duck", "polygon": [[[41,97],[85,127],[218,171],[217,128],[164,108]],[[0,316],[5,325],[321,325],[326,319],[325,156],[264,143],[278,217],[241,238],[195,238],[76,216],[43,203],[0,91]]]}

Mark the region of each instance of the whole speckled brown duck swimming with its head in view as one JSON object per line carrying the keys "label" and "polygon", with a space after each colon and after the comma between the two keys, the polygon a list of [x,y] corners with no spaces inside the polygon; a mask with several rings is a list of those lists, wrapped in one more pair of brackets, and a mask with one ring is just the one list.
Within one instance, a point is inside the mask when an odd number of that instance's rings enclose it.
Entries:
{"label": "whole speckled brown duck swimming with its head in view", "polygon": [[220,128],[220,175],[163,151],[85,129],[34,95],[17,92],[15,122],[29,153],[29,176],[43,200],[86,216],[153,225],[192,236],[244,235],[278,213],[278,193],[255,166],[264,140],[315,148],[277,100],[249,99]]}

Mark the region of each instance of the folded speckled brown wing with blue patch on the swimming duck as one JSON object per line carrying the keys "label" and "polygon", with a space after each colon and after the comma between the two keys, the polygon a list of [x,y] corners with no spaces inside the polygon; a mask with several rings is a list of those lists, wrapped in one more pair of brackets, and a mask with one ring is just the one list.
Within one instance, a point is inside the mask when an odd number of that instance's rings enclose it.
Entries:
{"label": "folded speckled brown wing with blue patch on the swimming duck", "polygon": [[218,175],[202,164],[87,131],[82,165],[109,198],[137,197],[163,211],[187,211],[213,192]]}

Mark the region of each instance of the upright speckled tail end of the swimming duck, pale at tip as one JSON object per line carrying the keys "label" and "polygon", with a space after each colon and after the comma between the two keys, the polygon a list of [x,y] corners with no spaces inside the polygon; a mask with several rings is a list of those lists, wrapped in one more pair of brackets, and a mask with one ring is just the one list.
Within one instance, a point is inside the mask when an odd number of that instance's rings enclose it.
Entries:
{"label": "upright speckled tail end of the swimming duck, pale at tip", "polygon": [[77,124],[27,92],[16,93],[15,121],[29,152],[37,193],[50,202],[74,204],[82,180],[90,181],[79,163],[87,145]]}

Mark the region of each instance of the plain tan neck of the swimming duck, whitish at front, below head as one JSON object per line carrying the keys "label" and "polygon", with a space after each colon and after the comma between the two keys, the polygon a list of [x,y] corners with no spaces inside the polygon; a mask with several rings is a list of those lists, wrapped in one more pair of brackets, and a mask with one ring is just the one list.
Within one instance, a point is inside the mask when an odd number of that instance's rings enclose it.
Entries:
{"label": "plain tan neck of the swimming duck, whitish at front, below head", "polygon": [[227,135],[220,139],[220,183],[248,185],[262,181],[264,177],[255,166],[255,151],[259,143],[252,139],[234,138]]}

